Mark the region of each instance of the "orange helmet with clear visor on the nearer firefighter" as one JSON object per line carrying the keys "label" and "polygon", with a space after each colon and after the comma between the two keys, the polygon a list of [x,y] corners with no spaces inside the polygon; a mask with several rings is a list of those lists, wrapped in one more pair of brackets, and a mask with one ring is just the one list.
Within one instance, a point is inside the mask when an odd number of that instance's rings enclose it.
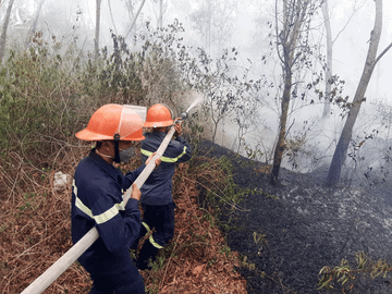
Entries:
{"label": "orange helmet with clear visor on the nearer firefighter", "polygon": [[127,106],[106,105],[93,113],[87,127],[75,136],[84,140],[143,140],[143,120]]}

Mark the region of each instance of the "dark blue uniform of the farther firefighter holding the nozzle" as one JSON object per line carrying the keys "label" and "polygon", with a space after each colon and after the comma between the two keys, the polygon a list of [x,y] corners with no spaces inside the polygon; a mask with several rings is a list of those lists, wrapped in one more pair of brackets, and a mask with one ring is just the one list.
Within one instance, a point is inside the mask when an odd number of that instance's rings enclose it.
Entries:
{"label": "dark blue uniform of the farther firefighter holding the nozzle", "polygon": [[[147,158],[161,145],[166,133],[152,132],[144,134],[142,142],[142,160]],[[149,236],[138,257],[138,267],[146,268],[149,257],[155,257],[158,249],[173,237],[174,234],[174,203],[172,196],[172,179],[176,163],[191,159],[192,148],[186,140],[179,136],[172,139],[161,157],[161,163],[154,170],[151,176],[142,186],[142,207],[144,210],[140,236],[148,233],[152,228],[155,232]]]}

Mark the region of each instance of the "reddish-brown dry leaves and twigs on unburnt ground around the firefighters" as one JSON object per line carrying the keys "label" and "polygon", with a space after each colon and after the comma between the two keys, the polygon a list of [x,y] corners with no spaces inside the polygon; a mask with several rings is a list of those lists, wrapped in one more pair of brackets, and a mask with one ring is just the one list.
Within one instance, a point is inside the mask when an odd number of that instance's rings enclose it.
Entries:
{"label": "reddish-brown dry leaves and twigs on unburnt ground around the firefighters", "polygon": [[[72,246],[71,188],[56,192],[52,179],[22,161],[11,163],[8,173],[0,172],[8,179],[0,195],[1,294],[21,293]],[[58,164],[70,174],[73,168]],[[186,164],[177,169],[174,237],[159,254],[164,257],[161,267],[142,272],[146,287],[162,294],[247,293],[246,281],[234,268],[240,265],[237,254],[223,250],[224,238],[198,207],[189,176]],[[44,293],[88,293],[90,286],[88,273],[75,262]]]}

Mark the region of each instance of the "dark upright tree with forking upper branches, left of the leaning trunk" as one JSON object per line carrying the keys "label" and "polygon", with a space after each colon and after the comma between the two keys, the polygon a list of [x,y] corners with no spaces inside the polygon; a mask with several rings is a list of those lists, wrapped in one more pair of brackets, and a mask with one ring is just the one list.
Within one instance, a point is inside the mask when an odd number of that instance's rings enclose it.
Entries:
{"label": "dark upright tree with forking upper branches, left of the leaning trunk", "polygon": [[272,184],[278,181],[284,152],[289,107],[292,99],[293,73],[301,70],[307,61],[309,24],[317,4],[317,1],[311,0],[283,0],[283,19],[279,20],[278,2],[275,0],[275,38],[278,57],[282,66],[283,94],[278,142],[273,154]]}

